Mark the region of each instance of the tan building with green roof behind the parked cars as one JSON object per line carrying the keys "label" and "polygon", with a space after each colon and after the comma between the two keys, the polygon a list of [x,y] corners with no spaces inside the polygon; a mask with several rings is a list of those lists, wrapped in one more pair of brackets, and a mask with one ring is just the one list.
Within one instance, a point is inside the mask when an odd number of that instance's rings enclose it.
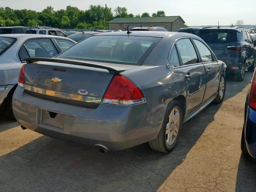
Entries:
{"label": "tan building with green roof behind the parked cars", "polygon": [[177,32],[184,27],[185,21],[181,16],[166,17],[130,17],[130,18],[114,18],[108,22],[109,30],[127,30],[134,27],[163,27],[168,31]]}

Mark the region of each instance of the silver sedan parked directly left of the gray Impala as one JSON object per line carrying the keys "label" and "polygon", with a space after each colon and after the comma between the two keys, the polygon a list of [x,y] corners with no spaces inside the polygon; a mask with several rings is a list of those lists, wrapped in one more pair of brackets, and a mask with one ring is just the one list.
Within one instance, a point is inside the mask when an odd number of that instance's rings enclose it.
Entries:
{"label": "silver sedan parked directly left of the gray Impala", "polygon": [[0,108],[10,117],[12,95],[25,58],[54,57],[75,42],[63,37],[31,34],[0,35]]}

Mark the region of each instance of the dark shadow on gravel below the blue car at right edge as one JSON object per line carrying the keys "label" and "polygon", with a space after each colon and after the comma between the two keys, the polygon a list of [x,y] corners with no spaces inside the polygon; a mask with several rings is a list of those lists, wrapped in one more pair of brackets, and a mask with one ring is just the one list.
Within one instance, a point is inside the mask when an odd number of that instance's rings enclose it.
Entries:
{"label": "dark shadow on gravel below the blue car at right edge", "polygon": [[236,192],[256,191],[256,160],[242,155],[236,176]]}

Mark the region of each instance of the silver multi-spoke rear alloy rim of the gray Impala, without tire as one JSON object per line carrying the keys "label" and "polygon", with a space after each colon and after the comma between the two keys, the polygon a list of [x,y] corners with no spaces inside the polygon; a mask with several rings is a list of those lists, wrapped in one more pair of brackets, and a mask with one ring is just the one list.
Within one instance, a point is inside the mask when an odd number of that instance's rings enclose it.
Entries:
{"label": "silver multi-spoke rear alloy rim of the gray Impala, without tire", "polygon": [[180,113],[177,108],[173,108],[169,115],[169,121],[166,124],[166,142],[169,146],[174,144],[174,142],[176,141],[179,128],[180,128]]}

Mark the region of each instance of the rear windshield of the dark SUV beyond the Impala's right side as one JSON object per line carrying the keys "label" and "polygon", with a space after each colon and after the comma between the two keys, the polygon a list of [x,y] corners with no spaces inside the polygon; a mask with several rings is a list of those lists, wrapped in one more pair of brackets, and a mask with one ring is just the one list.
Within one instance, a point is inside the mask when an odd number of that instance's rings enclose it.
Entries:
{"label": "rear windshield of the dark SUV beyond the Impala's right side", "polygon": [[235,30],[199,30],[197,35],[206,43],[231,43],[241,40],[241,33]]}

